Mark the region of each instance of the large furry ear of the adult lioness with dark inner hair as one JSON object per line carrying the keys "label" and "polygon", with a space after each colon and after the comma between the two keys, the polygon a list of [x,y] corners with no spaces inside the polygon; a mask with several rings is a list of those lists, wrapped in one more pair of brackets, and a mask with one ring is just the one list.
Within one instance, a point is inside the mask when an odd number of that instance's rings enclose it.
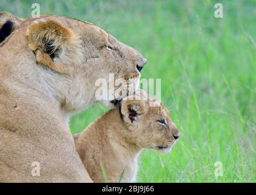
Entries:
{"label": "large furry ear of the adult lioness with dark inner hair", "polygon": [[73,31],[53,20],[35,21],[27,29],[29,49],[35,52],[37,62],[59,73],[65,73],[67,67],[53,61],[59,51],[65,51],[73,44]]}

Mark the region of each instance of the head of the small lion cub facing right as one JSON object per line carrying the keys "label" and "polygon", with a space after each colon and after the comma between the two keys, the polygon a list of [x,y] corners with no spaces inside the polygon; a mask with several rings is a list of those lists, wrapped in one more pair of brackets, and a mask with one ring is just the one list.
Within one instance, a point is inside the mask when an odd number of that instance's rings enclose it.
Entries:
{"label": "head of the small lion cub facing right", "polygon": [[[141,97],[140,97],[141,98]],[[138,147],[169,152],[179,138],[179,131],[162,103],[149,98],[128,96],[121,102],[121,118],[126,138]]]}

